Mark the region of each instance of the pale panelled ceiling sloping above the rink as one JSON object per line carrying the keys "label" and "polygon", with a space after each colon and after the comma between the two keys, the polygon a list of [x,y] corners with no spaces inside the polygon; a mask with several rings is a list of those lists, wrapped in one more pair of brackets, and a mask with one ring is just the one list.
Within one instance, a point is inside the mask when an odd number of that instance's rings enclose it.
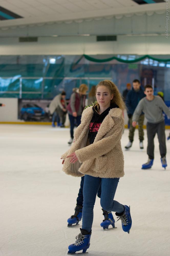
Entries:
{"label": "pale panelled ceiling sloping above the rink", "polygon": [[1,10],[7,9],[16,17],[1,20],[2,28],[166,11],[164,0],[1,0],[0,6],[0,16],[3,15]]}

